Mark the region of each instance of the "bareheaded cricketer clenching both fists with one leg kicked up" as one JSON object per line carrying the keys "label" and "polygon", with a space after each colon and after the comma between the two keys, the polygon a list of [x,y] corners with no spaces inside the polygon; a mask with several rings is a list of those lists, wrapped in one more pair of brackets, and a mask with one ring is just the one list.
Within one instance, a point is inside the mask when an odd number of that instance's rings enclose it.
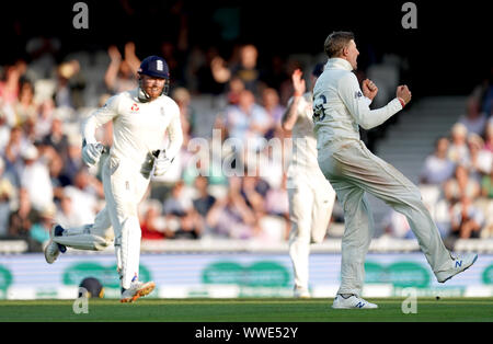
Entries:
{"label": "bareheaded cricketer clenching both fists with one leg kicked up", "polygon": [[335,32],[325,39],[329,60],[313,89],[313,121],[318,161],[344,209],[341,286],[333,308],[377,308],[362,296],[365,255],[374,234],[372,215],[365,193],[382,199],[403,214],[417,238],[438,282],[444,283],[472,265],[478,255],[451,255],[422,202],[420,190],[389,163],[374,156],[359,139],[359,128],[374,128],[401,111],[411,100],[408,87],[398,87],[397,98],[370,110],[378,88],[363,82],[363,92],[352,70],[359,51],[354,35]]}

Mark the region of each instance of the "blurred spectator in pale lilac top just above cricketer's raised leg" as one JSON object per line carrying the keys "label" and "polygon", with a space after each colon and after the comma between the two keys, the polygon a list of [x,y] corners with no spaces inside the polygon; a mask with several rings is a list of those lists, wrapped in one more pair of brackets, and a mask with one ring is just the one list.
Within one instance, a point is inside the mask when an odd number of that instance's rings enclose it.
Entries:
{"label": "blurred spectator in pale lilac top just above cricketer's raised leg", "polygon": [[435,151],[426,157],[421,170],[421,184],[442,185],[454,176],[456,165],[447,157],[449,144],[446,137],[440,137],[435,141]]}

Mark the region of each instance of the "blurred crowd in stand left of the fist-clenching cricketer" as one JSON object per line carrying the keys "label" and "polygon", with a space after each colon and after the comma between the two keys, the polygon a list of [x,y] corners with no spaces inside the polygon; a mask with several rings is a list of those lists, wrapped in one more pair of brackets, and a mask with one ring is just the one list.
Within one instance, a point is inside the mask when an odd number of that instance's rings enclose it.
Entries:
{"label": "blurred crowd in stand left of the fist-clenching cricketer", "polygon": [[[54,222],[91,223],[104,206],[101,171],[81,160],[80,127],[108,96],[138,85],[140,59],[131,42],[61,62],[54,58],[56,39],[33,38],[28,46],[28,60],[0,68],[0,238],[24,239],[31,251],[39,251]],[[277,61],[278,68],[264,74],[251,44],[236,47],[230,58],[214,48],[197,48],[183,66],[173,45],[163,43],[160,53],[170,65],[170,96],[180,106],[185,139],[172,170],[151,181],[140,206],[142,240],[286,240],[290,225],[284,162],[272,158],[265,141],[287,136],[280,130],[282,96],[285,103],[290,72],[299,64]],[[205,130],[199,127],[200,108],[191,102],[200,94],[210,95],[219,108],[206,130],[209,136],[215,129],[221,146],[228,138],[253,144],[225,152],[221,148],[226,159],[219,157],[219,162],[216,157],[195,161],[203,152],[191,150],[190,142],[198,138],[197,128]],[[96,137],[111,146],[111,133],[107,124]],[[283,152],[289,150],[283,147]],[[271,161],[263,175],[259,154]],[[242,173],[226,175],[222,162],[228,159],[229,168]]]}

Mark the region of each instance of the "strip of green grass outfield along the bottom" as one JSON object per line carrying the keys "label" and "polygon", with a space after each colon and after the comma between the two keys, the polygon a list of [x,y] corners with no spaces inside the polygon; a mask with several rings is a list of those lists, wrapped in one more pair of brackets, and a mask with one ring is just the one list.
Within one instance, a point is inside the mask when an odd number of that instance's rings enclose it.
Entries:
{"label": "strip of green grass outfield along the bottom", "polygon": [[493,298],[417,298],[417,313],[404,314],[403,298],[368,298],[375,310],[334,310],[332,299],[90,299],[76,314],[73,300],[2,300],[0,322],[491,322]]}

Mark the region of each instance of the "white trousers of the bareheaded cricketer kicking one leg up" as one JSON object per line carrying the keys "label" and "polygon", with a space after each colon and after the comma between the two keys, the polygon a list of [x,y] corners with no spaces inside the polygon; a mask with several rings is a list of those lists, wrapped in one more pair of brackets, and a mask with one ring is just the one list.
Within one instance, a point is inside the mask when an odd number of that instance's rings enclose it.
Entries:
{"label": "white trousers of the bareheaded cricketer kicking one leg up", "polygon": [[435,275],[450,266],[450,253],[422,202],[420,190],[395,168],[372,154],[363,141],[333,141],[319,150],[318,161],[344,209],[337,294],[362,295],[365,256],[374,234],[372,215],[365,192],[408,218]]}

